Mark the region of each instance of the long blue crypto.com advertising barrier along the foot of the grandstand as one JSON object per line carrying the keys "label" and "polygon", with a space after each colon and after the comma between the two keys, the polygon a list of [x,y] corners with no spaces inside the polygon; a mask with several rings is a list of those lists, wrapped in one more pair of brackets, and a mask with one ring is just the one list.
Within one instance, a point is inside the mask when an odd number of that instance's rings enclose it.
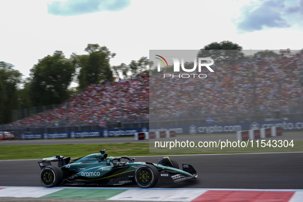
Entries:
{"label": "long blue crypto.com advertising barrier along the foot of the grandstand", "polygon": [[93,131],[71,131],[57,133],[22,133],[21,139],[60,139],[60,138],[98,138],[98,137],[130,137],[137,132],[155,132],[174,130],[178,135],[188,134],[235,134],[237,131],[281,127],[283,132],[303,131],[303,119],[274,120],[270,122],[249,122],[230,124],[206,124],[149,128],[127,128]]}

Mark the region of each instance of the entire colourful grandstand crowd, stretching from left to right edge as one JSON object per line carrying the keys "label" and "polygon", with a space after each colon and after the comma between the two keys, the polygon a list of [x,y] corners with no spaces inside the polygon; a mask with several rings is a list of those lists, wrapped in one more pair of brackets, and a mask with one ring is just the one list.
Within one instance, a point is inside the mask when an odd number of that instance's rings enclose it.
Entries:
{"label": "entire colourful grandstand crowd, stretching from left to right edge", "polygon": [[[66,126],[148,122],[158,117],[221,117],[298,111],[303,101],[303,55],[265,56],[213,65],[206,78],[163,78],[142,73],[90,85],[55,110],[11,125]],[[184,74],[188,72],[172,72]]]}

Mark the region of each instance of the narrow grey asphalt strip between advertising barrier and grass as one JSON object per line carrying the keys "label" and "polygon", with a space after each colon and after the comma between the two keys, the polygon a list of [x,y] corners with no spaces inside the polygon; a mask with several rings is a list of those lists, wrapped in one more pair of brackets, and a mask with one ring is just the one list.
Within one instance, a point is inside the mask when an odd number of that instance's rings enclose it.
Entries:
{"label": "narrow grey asphalt strip between advertising barrier and grass", "polygon": [[[270,137],[276,140],[303,140],[303,133],[284,133],[282,136],[277,137]],[[266,138],[266,139],[270,139]],[[165,138],[165,140],[175,139]],[[192,142],[199,142],[199,141],[236,141],[236,134],[229,134],[229,135],[184,135],[184,136],[177,136],[178,141],[192,141]],[[64,145],[64,144],[123,144],[123,143],[149,143],[153,141],[158,141],[159,139],[144,139],[144,140],[135,140],[134,137],[130,138],[87,138],[87,139],[37,139],[37,140],[5,140],[0,142],[1,145]],[[161,139],[164,140],[164,139]]]}

